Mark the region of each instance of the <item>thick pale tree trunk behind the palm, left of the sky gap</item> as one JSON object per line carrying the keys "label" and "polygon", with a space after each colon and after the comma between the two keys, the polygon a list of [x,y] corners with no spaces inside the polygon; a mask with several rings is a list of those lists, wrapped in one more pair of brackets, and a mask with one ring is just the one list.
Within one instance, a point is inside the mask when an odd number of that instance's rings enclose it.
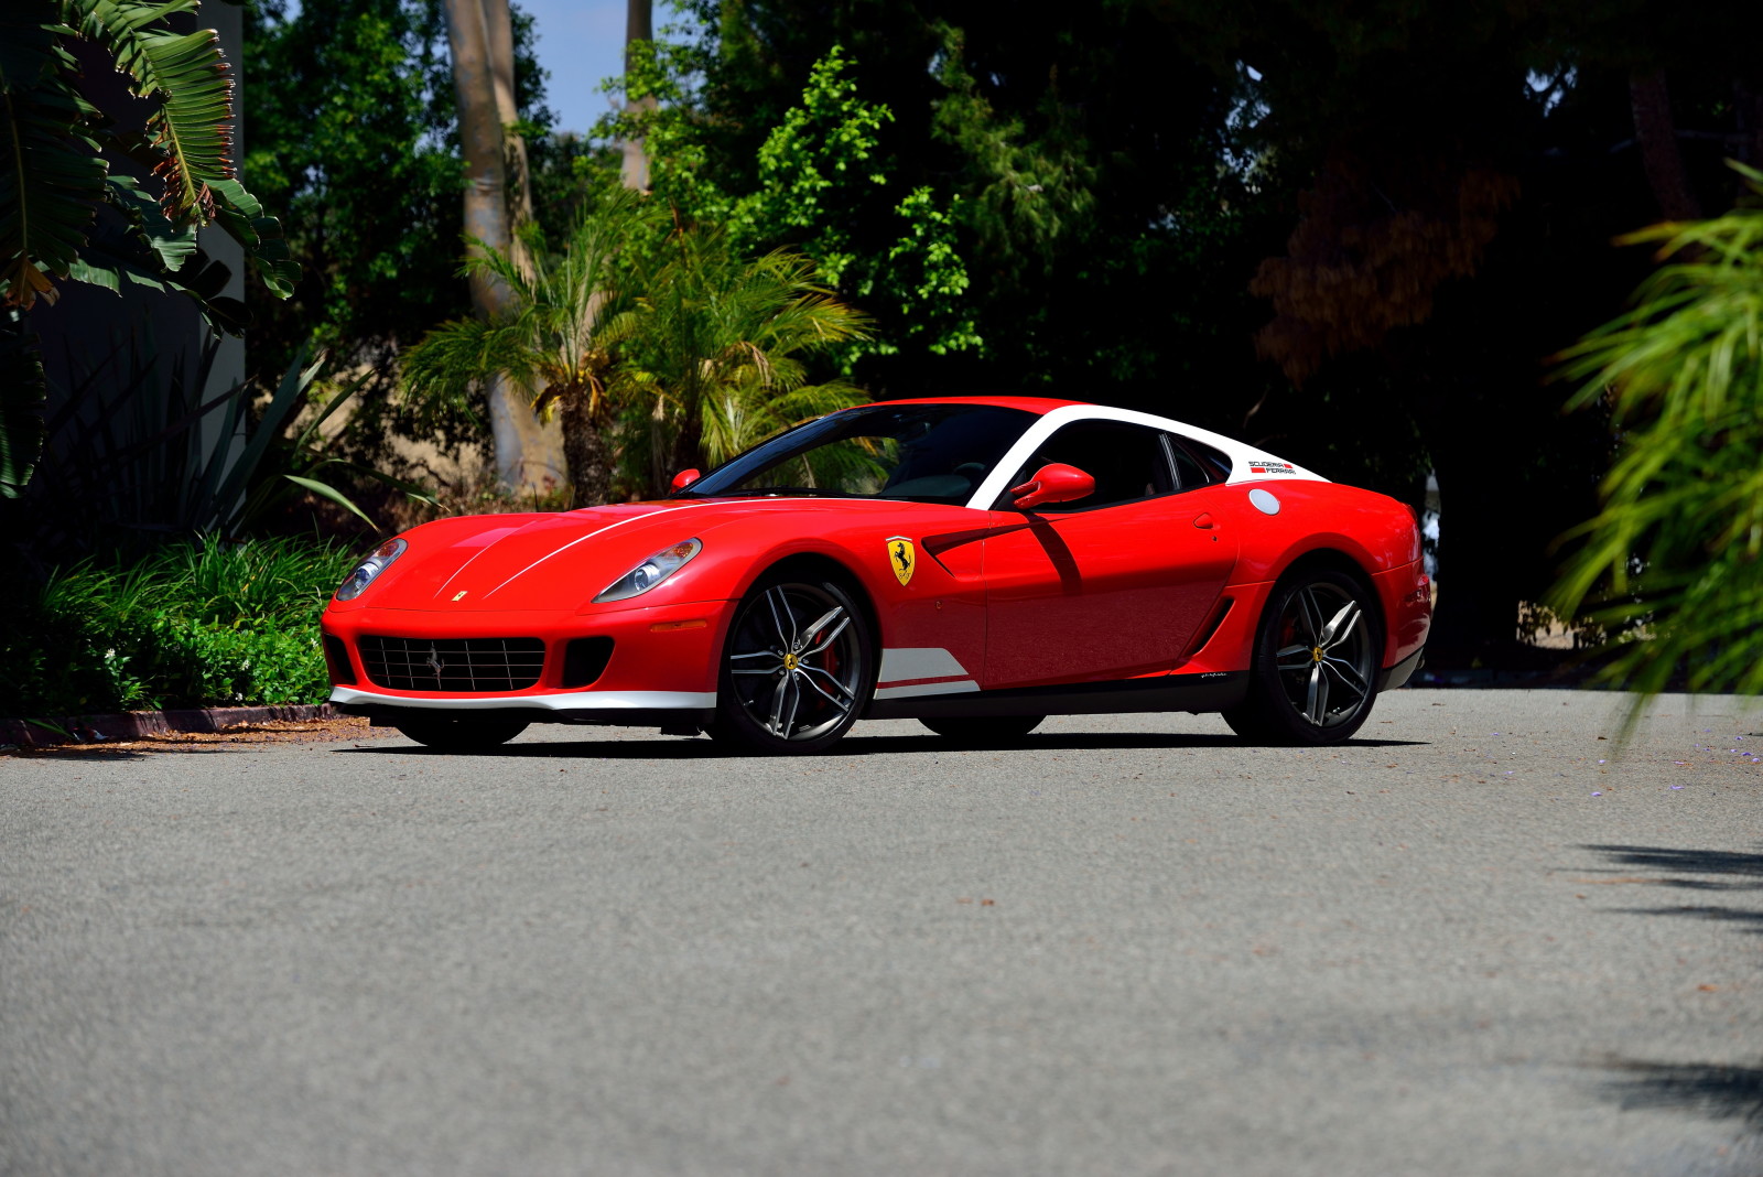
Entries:
{"label": "thick pale tree trunk behind the palm, left of the sky gap", "polygon": [[[495,58],[488,16],[508,0],[446,0],[448,46],[453,53],[453,90],[458,99],[458,137],[465,157],[465,236],[469,248],[508,250],[513,243],[508,213],[506,136],[495,93]],[[511,60],[511,55],[510,55]],[[510,102],[513,102],[513,65]],[[515,294],[488,275],[471,278],[471,303],[483,319],[511,315]],[[490,381],[490,433],[495,477],[510,493],[550,493],[564,479],[561,433],[547,430],[532,412],[527,389],[495,377]]]}

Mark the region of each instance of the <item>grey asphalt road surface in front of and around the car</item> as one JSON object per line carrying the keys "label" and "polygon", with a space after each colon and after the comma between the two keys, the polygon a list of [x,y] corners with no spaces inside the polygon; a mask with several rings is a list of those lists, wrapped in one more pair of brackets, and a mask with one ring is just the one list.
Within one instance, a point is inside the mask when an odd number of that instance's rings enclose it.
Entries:
{"label": "grey asphalt road surface in front of and around the car", "polygon": [[0,1173],[1756,1177],[1763,715],[1618,701],[0,758]]}

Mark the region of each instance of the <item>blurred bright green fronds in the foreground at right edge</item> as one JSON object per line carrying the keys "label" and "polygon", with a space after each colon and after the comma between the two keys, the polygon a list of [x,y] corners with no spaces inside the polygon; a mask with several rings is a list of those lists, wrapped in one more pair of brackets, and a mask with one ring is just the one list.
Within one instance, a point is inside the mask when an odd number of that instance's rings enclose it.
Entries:
{"label": "blurred bright green fronds in the foreground at right edge", "polygon": [[[1742,169],[1763,197],[1763,173]],[[1763,692],[1763,208],[1629,241],[1666,263],[1636,305],[1562,352],[1573,405],[1608,400],[1603,511],[1553,606],[1622,633],[1604,677],[1654,694]]]}

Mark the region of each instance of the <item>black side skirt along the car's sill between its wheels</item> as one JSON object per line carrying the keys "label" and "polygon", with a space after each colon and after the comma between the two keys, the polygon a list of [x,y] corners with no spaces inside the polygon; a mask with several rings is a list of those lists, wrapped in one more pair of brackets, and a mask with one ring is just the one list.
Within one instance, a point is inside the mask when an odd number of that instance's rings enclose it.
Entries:
{"label": "black side skirt along the car's sill between its wheels", "polygon": [[1125,712],[1222,712],[1248,698],[1248,673],[1164,675],[1121,682],[1014,687],[874,700],[864,719],[964,715],[1112,715]]}

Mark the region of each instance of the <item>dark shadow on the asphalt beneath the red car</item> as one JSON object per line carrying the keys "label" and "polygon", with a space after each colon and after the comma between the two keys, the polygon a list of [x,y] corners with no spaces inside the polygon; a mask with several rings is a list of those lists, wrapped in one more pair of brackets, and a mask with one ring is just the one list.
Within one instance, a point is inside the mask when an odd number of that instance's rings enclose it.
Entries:
{"label": "dark shadow on the asphalt beneath the red car", "polygon": [[[1269,752],[1333,751],[1336,747],[1409,747],[1425,740],[1347,740],[1329,749],[1292,749],[1268,747]],[[1015,740],[950,744],[934,735],[922,737],[846,737],[823,756],[913,756],[957,752],[1107,752],[1107,751],[1157,751],[1157,749],[1206,749],[1261,747],[1243,744],[1227,735],[1169,735],[1169,733],[1047,733],[1030,735]],[[504,756],[515,759],[772,759],[769,756],[746,756],[730,751],[714,740],[702,737],[661,737],[656,740],[545,740],[534,744],[504,744],[480,752],[451,752],[432,747],[342,747],[338,752],[368,756]]]}

